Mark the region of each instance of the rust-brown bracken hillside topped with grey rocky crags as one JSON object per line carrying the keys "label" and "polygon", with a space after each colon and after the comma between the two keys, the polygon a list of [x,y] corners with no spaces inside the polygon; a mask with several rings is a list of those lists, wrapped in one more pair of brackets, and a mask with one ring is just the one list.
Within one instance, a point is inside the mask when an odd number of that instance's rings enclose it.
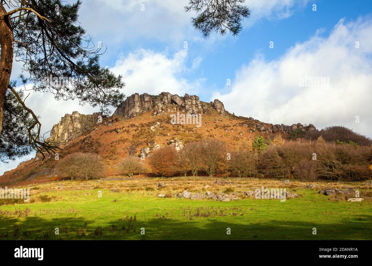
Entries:
{"label": "rust-brown bracken hillside topped with grey rocky crags", "polygon": [[[177,124],[171,121],[181,114],[199,115],[199,124]],[[206,137],[218,138],[229,144],[256,137],[257,134],[289,134],[298,129],[315,130],[310,124],[269,124],[251,117],[229,113],[218,99],[203,102],[196,95],[178,96],[162,92],[159,95],[133,94],[115,111],[109,120],[102,120],[100,113],[83,115],[66,114],[51,130],[48,141],[60,143],[59,159],[74,152],[97,153],[106,166],[106,176],[116,176],[116,165],[134,149],[138,156],[151,153],[158,145],[187,145]],[[177,140],[175,140],[177,139]],[[180,146],[182,148],[182,146]],[[0,185],[33,184],[58,180],[55,166],[59,160],[41,156],[22,162],[17,168],[0,177]]]}

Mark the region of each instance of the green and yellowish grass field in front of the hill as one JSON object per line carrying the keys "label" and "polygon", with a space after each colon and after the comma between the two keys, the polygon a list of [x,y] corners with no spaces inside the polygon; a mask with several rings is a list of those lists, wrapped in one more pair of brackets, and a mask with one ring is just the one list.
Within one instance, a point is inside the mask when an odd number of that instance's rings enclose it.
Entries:
{"label": "green and yellowish grass field in front of the hill", "polygon": [[[333,201],[304,183],[240,179],[214,185],[216,179],[172,178],[120,181],[62,181],[31,188],[31,200],[0,206],[0,239],[49,240],[371,240],[372,201]],[[168,183],[157,188],[158,181]],[[320,183],[320,188],[344,183]],[[210,187],[205,188],[204,186]],[[251,187],[286,188],[299,198],[255,199],[243,195]],[[348,184],[369,195],[371,188]],[[231,187],[241,200],[159,198],[158,193]],[[102,197],[98,197],[102,191]],[[114,192],[115,191],[115,192]],[[98,228],[97,228],[98,227]],[[102,227],[102,231],[99,227]],[[59,234],[55,234],[55,228]],[[141,234],[144,228],[145,234]],[[227,234],[227,228],[231,234]],[[317,234],[312,234],[316,228]],[[85,234],[85,235],[84,235]]]}

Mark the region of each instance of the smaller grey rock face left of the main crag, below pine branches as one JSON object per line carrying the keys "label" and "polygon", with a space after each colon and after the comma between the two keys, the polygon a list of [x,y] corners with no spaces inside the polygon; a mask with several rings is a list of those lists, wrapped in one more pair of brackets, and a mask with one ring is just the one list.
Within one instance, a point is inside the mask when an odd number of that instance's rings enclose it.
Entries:
{"label": "smaller grey rock face left of the main crag, below pine branches", "polygon": [[46,140],[61,144],[67,143],[98,125],[100,115],[101,113],[79,114],[77,111],[65,114],[61,117],[61,121],[53,126],[50,137]]}

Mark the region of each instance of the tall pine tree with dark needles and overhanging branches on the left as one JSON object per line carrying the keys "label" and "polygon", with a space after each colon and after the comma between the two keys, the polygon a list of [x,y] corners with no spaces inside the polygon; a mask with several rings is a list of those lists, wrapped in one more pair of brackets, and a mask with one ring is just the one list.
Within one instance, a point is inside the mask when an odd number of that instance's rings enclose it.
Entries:
{"label": "tall pine tree with dark needles and overhanging branches on the left", "polygon": [[[27,127],[28,145],[41,155],[54,155],[56,143],[44,142],[41,123],[10,82],[13,57],[22,63],[20,80],[33,84],[32,90],[48,92],[56,100],[76,99],[80,104],[100,107],[103,116],[109,106],[118,106],[124,95],[121,76],[99,64],[101,46],[95,47],[78,22],[80,0],[70,4],[60,0],[1,0],[0,3],[0,138],[3,139],[4,102],[9,92],[32,116],[20,120]],[[6,118],[9,120],[9,118]],[[16,143],[13,143],[16,145]]]}

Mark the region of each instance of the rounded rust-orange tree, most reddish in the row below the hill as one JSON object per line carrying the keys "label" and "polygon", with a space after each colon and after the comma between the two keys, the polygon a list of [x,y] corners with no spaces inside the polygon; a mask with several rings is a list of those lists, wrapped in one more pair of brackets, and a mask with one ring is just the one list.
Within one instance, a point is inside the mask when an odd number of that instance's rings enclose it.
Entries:
{"label": "rounded rust-orange tree, most reddish in the row below the hill", "polygon": [[163,146],[156,149],[148,157],[148,164],[156,175],[171,176],[177,170],[177,151],[173,146]]}

